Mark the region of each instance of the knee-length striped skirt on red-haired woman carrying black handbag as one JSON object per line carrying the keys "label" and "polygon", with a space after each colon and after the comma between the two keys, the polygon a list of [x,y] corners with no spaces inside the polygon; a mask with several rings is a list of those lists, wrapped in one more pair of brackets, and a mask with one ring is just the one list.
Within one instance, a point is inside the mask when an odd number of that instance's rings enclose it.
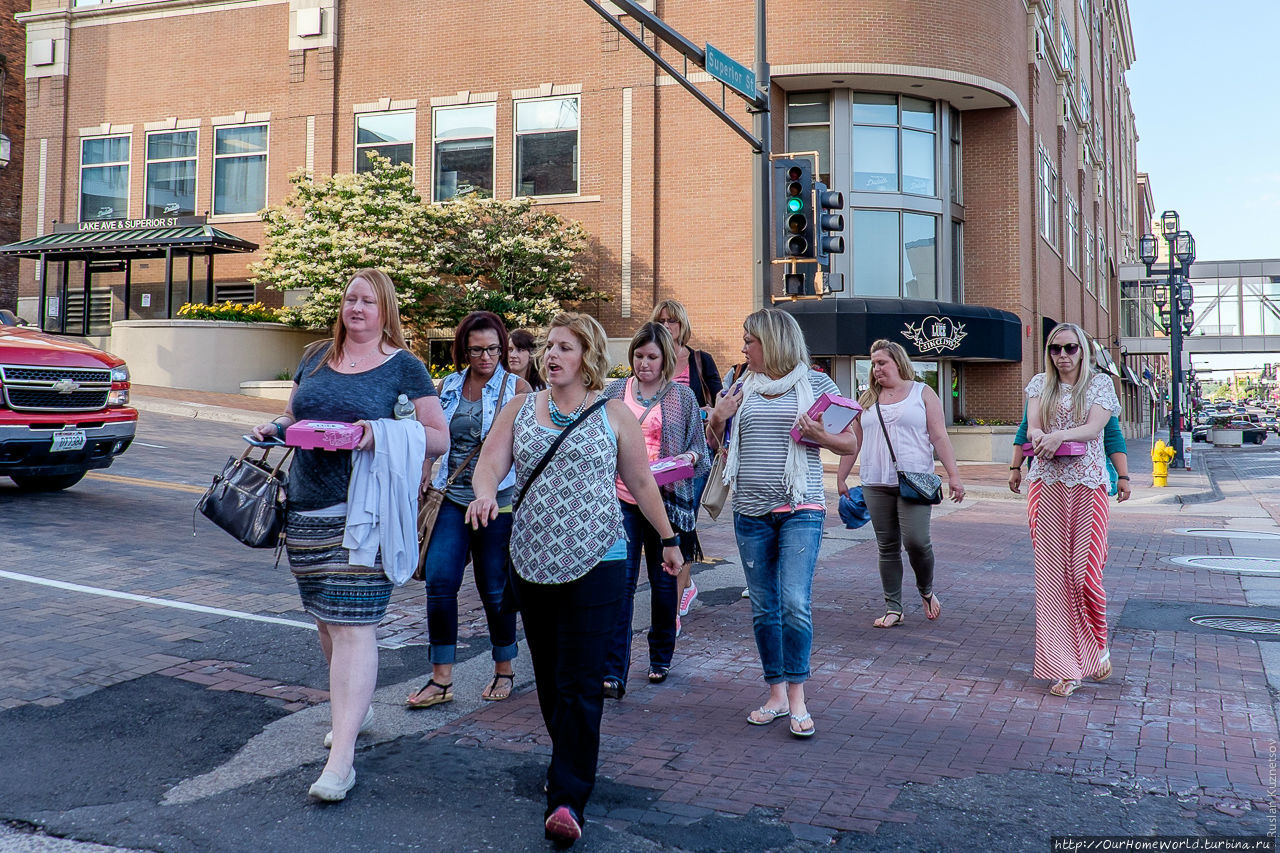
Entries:
{"label": "knee-length striped skirt on red-haired woman carrying black handbag", "polygon": [[289,569],[298,581],[302,608],[326,625],[376,625],[387,615],[392,581],[381,555],[374,566],[352,566],[342,547],[344,515],[288,512],[284,521]]}

